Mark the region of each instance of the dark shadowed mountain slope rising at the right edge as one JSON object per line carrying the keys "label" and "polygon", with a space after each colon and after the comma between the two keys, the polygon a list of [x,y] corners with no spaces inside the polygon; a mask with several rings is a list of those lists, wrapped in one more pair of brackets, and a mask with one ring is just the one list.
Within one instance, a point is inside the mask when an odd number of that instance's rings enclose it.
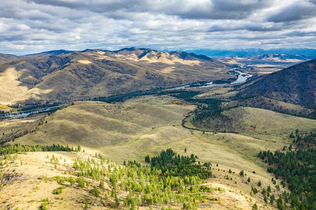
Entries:
{"label": "dark shadowed mountain slope rising at the right edge", "polygon": [[242,97],[264,96],[301,105],[316,103],[316,59],[263,76],[241,88]]}

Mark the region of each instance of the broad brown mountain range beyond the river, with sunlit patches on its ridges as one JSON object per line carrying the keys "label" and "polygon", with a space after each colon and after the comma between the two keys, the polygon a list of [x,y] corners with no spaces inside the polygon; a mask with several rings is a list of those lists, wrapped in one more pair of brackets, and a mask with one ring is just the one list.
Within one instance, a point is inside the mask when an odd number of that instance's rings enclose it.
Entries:
{"label": "broad brown mountain range beyond the river, with sunlit patches on its ridges", "polygon": [[70,102],[230,78],[233,65],[144,48],[49,51],[0,64],[0,103]]}

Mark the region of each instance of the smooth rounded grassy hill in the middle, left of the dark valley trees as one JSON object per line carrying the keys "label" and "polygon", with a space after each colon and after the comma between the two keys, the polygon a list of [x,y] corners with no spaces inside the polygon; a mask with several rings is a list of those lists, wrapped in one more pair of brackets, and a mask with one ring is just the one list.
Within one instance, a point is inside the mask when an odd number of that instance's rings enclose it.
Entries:
{"label": "smooth rounded grassy hill in the middle, left of the dark valley trees", "polygon": [[[194,106],[162,103],[171,99],[165,96],[157,99],[141,98],[139,102],[124,104],[75,102],[74,105],[46,116],[39,131],[15,142],[80,144],[108,153],[105,147],[119,146],[125,149],[126,145],[151,145],[155,141],[162,143],[173,140],[174,136],[190,135],[190,132],[183,132],[183,129],[172,125],[194,109]],[[172,135],[164,135],[162,128],[169,130]],[[111,149],[111,152],[117,154],[118,151]]]}

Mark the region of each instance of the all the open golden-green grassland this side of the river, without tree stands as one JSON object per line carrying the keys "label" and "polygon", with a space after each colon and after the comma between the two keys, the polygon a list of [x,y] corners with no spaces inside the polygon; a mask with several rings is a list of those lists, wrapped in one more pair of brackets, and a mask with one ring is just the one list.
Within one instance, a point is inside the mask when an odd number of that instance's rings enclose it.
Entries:
{"label": "all the open golden-green grassland this side of the river, without tree stands", "polygon": [[[299,129],[302,134],[310,132],[315,129],[316,120],[260,108],[237,107],[224,112],[232,119],[234,133],[198,131],[181,126],[182,119],[195,106],[174,105],[172,102],[175,100],[165,95],[139,97],[117,104],[75,102],[74,105],[45,116],[42,125],[36,126],[34,132],[10,143],[59,143],[74,147],[79,144],[85,152],[18,154],[15,160],[8,161],[8,165],[0,168],[3,174],[18,174],[0,189],[0,209],[10,206],[12,209],[36,209],[43,203],[40,200],[45,198],[51,201],[48,209],[84,209],[84,204],[80,202],[84,198],[91,203],[89,209],[108,209],[109,206],[103,207],[100,202],[93,202],[94,198],[88,192],[91,185],[84,189],[76,184],[74,187],[68,186],[62,194],[56,196],[52,194],[52,190],[60,185],[56,181],[45,182],[39,177],[65,175],[65,172],[68,176],[73,175],[74,159],[86,160],[96,152],[120,165],[128,160],[146,164],[146,155],[158,155],[162,149],[167,148],[183,155],[193,153],[201,163],[211,162],[212,177],[205,180],[204,184],[225,189],[213,192],[212,196],[219,200],[201,203],[198,209],[250,210],[255,203],[259,209],[276,209],[276,202],[273,205],[265,204],[261,193],[253,197],[249,194],[251,186],[257,187],[260,192],[271,185],[276,197],[284,191],[282,187],[280,191],[276,190],[271,181],[273,175],[267,172],[267,165],[256,155],[262,150],[275,151],[281,150],[283,146],[288,147],[292,142],[289,139],[291,131]],[[8,130],[18,123],[21,122],[2,122],[2,126],[5,125]],[[61,156],[61,164],[57,169],[50,163],[52,154]],[[229,173],[229,170],[233,173]],[[241,170],[246,175],[240,176]],[[247,181],[248,177],[250,182]],[[259,180],[262,182],[261,186],[257,186]],[[109,188],[108,185],[106,187]],[[122,201],[126,195],[123,192],[119,194]],[[110,199],[109,203],[111,202],[114,204]],[[113,208],[112,205],[111,209]],[[161,209],[161,206],[154,205],[153,208]],[[170,208],[178,209],[176,206]],[[117,209],[123,209],[122,204]],[[140,209],[148,209],[148,206],[141,206]]]}

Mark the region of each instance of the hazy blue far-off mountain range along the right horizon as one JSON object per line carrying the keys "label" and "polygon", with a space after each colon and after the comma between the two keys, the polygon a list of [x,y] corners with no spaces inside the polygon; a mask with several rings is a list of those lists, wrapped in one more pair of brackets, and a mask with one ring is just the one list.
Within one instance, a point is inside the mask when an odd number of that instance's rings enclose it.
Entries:
{"label": "hazy blue far-off mountain range along the right horizon", "polygon": [[290,55],[305,55],[311,56],[312,59],[316,58],[316,49],[311,48],[246,48],[246,49],[197,49],[188,50],[187,52],[193,52],[196,54],[203,54],[206,56],[253,56],[261,54],[281,53]]}

